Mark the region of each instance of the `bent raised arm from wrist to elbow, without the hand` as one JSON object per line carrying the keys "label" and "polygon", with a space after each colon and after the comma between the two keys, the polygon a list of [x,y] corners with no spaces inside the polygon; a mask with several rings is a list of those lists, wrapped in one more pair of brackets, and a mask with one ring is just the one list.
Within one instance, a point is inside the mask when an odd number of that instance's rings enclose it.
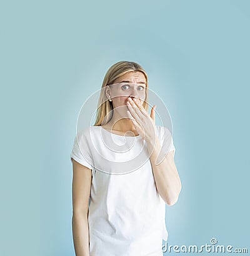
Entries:
{"label": "bent raised arm from wrist to elbow, without the hand", "polygon": [[181,180],[174,164],[173,151],[168,152],[168,155],[158,165],[156,161],[158,159],[159,162],[158,155],[161,151],[161,144],[158,138],[156,138],[156,145],[151,145],[149,142],[149,151],[152,152],[150,160],[158,193],[164,202],[168,205],[173,205],[177,202],[181,192]]}

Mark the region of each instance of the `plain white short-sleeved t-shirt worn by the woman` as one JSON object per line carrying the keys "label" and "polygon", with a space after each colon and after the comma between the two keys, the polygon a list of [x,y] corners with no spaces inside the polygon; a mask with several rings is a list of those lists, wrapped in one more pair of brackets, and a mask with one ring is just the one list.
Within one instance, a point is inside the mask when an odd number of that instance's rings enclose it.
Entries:
{"label": "plain white short-sleeved t-shirt worn by the woman", "polygon": [[[163,155],[175,152],[168,128],[156,126],[156,131]],[[101,126],[78,132],[71,158],[92,170],[90,256],[163,255],[166,204],[156,189],[148,154],[139,135],[115,135]]]}

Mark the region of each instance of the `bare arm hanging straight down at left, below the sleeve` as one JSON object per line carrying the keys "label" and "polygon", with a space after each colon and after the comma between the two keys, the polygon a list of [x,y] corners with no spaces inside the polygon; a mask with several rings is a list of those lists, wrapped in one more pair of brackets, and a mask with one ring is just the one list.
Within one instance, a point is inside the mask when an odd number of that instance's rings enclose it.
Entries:
{"label": "bare arm hanging straight down at left, below the sleeve", "polygon": [[76,256],[89,256],[89,195],[91,170],[73,159],[72,230]]}

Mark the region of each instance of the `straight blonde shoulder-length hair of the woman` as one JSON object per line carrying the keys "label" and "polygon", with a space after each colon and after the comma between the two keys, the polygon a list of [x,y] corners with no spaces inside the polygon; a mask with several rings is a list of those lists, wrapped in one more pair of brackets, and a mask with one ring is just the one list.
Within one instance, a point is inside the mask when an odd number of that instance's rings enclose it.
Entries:
{"label": "straight blonde shoulder-length hair of the woman", "polygon": [[[143,106],[145,110],[148,111],[148,74],[138,63],[132,61],[119,61],[118,63],[113,64],[104,76],[94,126],[100,126],[108,123],[113,116],[113,102],[108,100],[105,94],[105,87],[109,84],[113,84],[117,78],[124,74],[136,71],[143,73],[146,79],[146,98]],[[110,115],[110,113],[112,114]],[[109,118],[107,118],[108,114]]]}

